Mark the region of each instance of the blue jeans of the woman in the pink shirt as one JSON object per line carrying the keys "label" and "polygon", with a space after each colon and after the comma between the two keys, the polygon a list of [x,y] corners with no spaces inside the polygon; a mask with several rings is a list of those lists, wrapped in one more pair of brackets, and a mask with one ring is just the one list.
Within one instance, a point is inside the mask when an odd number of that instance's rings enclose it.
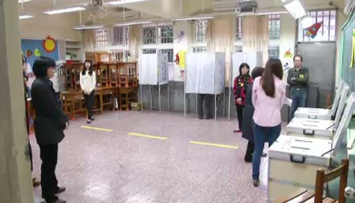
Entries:
{"label": "blue jeans of the woman in the pink shirt", "polygon": [[264,150],[264,143],[269,147],[277,140],[281,132],[281,123],[274,127],[262,127],[254,124],[254,154],[253,154],[253,180],[259,180],[260,158]]}

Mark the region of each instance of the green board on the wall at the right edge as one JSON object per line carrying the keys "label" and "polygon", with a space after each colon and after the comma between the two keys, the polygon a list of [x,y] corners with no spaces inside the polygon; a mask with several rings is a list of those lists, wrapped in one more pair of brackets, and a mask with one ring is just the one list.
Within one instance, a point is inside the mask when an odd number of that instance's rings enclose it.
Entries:
{"label": "green board on the wall at the right edge", "polygon": [[349,84],[350,90],[355,91],[355,62],[352,67],[351,63],[351,53],[352,53],[352,31],[355,29],[355,13],[352,9],[349,18],[342,27],[341,32],[341,60],[340,60],[340,76],[345,82]]}

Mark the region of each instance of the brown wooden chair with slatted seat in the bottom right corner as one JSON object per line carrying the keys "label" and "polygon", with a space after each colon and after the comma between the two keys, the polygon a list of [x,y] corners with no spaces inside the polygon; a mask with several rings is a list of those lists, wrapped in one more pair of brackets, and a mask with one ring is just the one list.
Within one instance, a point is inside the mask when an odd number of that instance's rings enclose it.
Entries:
{"label": "brown wooden chair with slatted seat in the bottom right corner", "polygon": [[[349,170],[349,160],[343,159],[341,165],[330,172],[323,169],[317,170],[315,179],[314,194],[306,189],[299,189],[294,194],[282,197],[274,203],[345,203],[344,190],[347,184],[347,174]],[[323,196],[324,184],[340,176],[339,199],[334,200]]]}

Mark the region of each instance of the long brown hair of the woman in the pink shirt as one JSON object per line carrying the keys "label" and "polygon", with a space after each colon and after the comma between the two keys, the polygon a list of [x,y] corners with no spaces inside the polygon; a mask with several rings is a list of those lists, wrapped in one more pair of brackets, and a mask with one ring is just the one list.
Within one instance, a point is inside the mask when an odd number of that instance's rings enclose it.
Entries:
{"label": "long brown hair of the woman in the pink shirt", "polygon": [[275,96],[275,82],[274,76],[282,80],[283,70],[282,63],[280,59],[271,58],[267,61],[265,65],[264,75],[262,76],[262,87],[265,91],[265,94],[274,97]]}

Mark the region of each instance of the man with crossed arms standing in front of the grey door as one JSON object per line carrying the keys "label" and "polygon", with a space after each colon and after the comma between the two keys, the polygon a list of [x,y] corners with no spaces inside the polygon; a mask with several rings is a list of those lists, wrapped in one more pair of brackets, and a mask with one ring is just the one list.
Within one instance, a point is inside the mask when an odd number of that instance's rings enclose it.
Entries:
{"label": "man with crossed arms standing in front of the grey door", "polygon": [[294,68],[289,70],[287,83],[290,85],[290,95],[292,98],[291,119],[299,107],[306,107],[307,83],[309,80],[309,71],[302,65],[303,58],[296,54],[293,58]]}

